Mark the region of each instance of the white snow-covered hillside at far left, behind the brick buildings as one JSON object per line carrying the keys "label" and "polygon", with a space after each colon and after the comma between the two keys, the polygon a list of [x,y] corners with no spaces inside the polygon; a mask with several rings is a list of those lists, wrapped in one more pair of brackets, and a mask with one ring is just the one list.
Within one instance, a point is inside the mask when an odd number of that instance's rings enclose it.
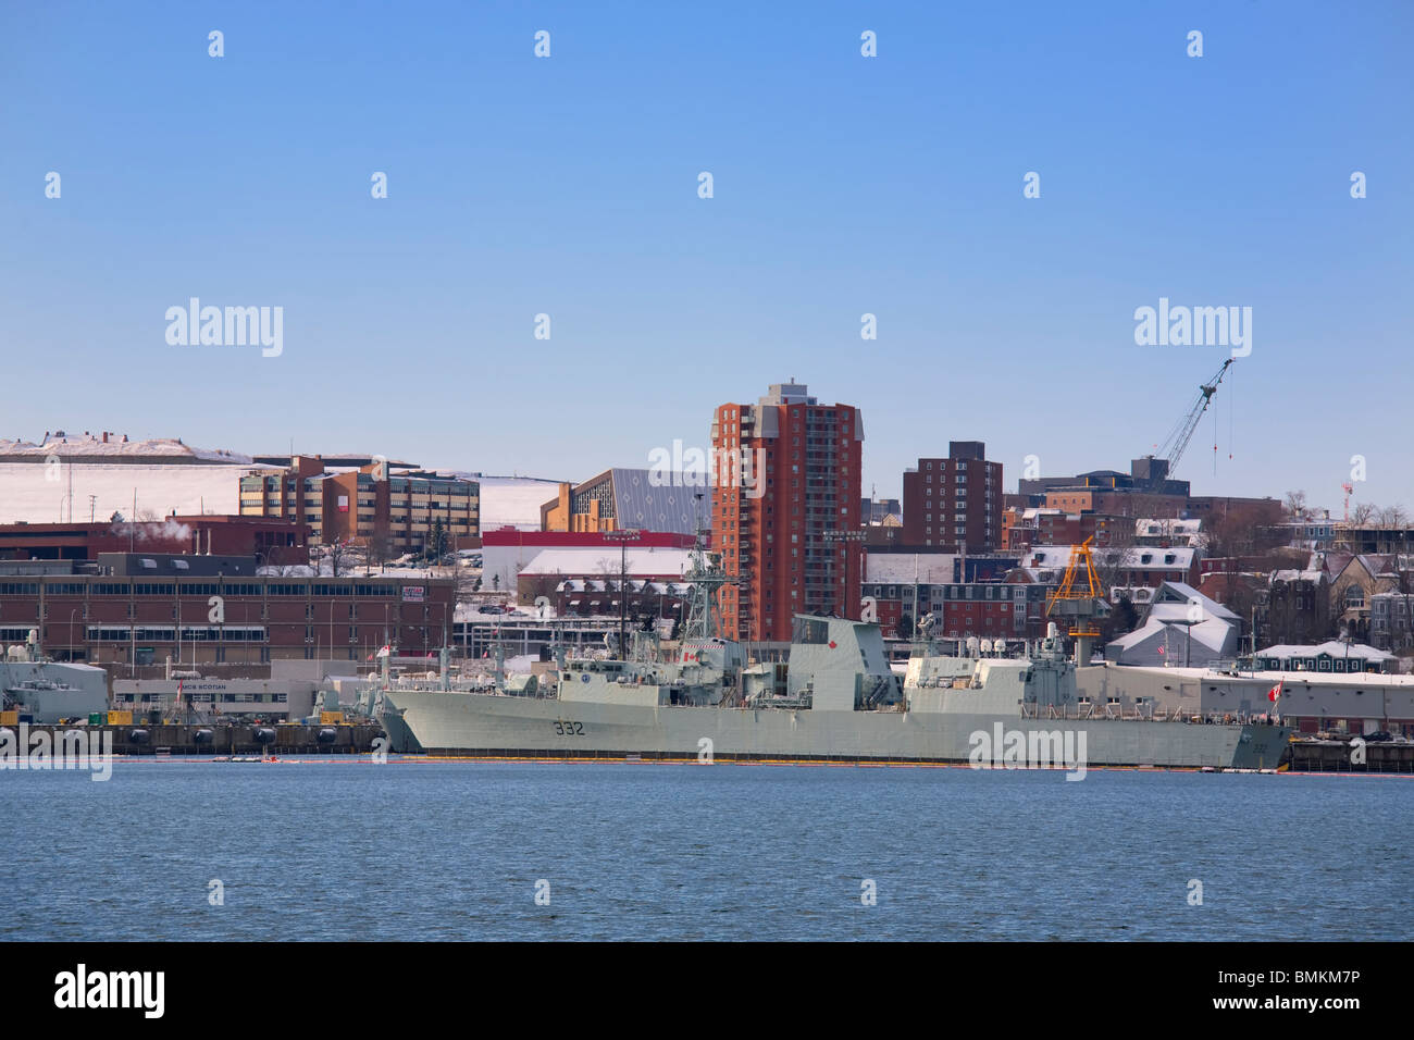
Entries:
{"label": "white snow-covered hillside at far left, behind the brick buildings", "polygon": [[[74,478],[75,522],[89,518],[89,495],[96,495],[92,515],[107,519],[115,512],[132,518],[133,490],[137,511],[154,516],[239,511],[240,477],[249,464],[146,466],[134,463],[0,463],[0,524],[28,521],[61,524],[69,519],[65,497]],[[47,477],[54,477],[48,480]]]}

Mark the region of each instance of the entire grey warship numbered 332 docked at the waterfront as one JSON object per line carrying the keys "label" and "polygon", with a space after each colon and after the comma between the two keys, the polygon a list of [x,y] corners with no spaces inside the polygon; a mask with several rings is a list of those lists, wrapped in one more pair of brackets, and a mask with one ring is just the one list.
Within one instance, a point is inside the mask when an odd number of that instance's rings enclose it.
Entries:
{"label": "entire grey warship numbered 332 docked at the waterfront", "polygon": [[728,580],[699,552],[682,640],[643,635],[609,659],[557,657],[553,681],[458,689],[385,679],[375,712],[393,751],[472,758],[962,763],[974,767],[1274,770],[1291,730],[1093,703],[1052,627],[1025,657],[937,652],[899,676],[878,624],[796,616],[789,661],[720,634]]}

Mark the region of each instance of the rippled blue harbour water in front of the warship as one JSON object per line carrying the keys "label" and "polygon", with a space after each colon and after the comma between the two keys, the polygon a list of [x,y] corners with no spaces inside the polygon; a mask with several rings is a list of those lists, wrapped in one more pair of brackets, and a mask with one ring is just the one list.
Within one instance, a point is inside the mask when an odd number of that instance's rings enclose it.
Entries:
{"label": "rippled blue harbour water in front of the warship", "polygon": [[1393,777],[119,761],[0,821],[0,940],[1414,938]]}

